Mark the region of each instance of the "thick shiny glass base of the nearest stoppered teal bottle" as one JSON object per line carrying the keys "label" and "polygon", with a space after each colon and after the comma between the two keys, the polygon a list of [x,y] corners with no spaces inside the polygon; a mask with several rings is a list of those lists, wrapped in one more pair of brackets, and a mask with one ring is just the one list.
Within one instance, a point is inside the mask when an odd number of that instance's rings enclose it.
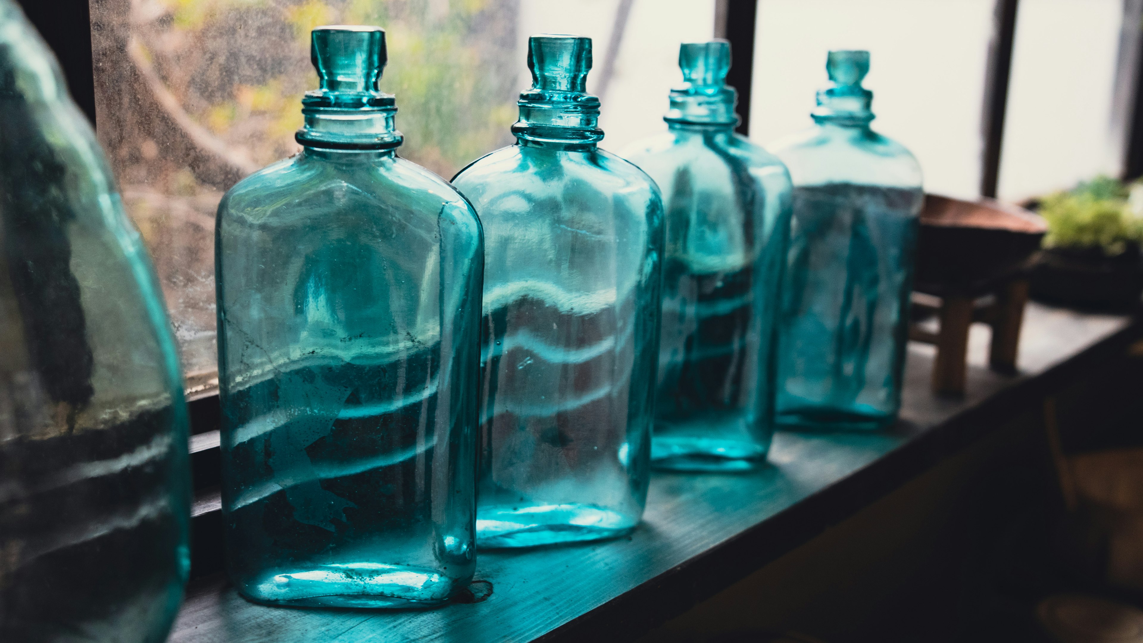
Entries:
{"label": "thick shiny glass base of the nearest stoppered teal bottle", "polygon": [[238,585],[248,601],[288,608],[433,608],[467,581],[411,565],[343,563],[273,570]]}

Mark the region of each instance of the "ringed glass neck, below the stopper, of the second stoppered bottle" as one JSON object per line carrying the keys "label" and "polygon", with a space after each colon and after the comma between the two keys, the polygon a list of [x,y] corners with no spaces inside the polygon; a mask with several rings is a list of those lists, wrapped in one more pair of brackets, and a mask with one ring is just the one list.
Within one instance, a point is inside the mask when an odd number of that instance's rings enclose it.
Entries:
{"label": "ringed glass neck, below the stopper, of the second stoppered bottle", "polygon": [[520,145],[589,152],[604,139],[599,98],[590,94],[533,88],[520,94],[519,105],[512,134]]}

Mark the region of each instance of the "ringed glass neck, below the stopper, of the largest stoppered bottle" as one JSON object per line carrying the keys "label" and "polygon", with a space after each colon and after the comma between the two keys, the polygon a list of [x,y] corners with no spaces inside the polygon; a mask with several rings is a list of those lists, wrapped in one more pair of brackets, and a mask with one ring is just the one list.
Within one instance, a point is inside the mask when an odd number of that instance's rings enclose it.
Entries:
{"label": "ringed glass neck, below the stopper, of the largest stoppered bottle", "polygon": [[327,90],[310,91],[302,99],[305,124],[294,135],[305,147],[321,150],[395,150],[405,137],[397,131],[393,97],[368,102],[338,101]]}

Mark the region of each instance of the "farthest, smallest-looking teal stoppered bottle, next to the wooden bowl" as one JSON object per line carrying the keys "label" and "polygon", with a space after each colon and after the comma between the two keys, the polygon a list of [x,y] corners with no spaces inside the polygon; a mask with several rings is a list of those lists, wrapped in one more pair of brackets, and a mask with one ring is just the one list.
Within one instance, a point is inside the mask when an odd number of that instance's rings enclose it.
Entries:
{"label": "farthest, smallest-looking teal stoppered bottle, next to the wooden bowl", "polygon": [[815,126],[772,147],[794,185],[777,417],[876,429],[901,408],[921,170],[869,127],[869,53],[830,51],[826,70]]}

